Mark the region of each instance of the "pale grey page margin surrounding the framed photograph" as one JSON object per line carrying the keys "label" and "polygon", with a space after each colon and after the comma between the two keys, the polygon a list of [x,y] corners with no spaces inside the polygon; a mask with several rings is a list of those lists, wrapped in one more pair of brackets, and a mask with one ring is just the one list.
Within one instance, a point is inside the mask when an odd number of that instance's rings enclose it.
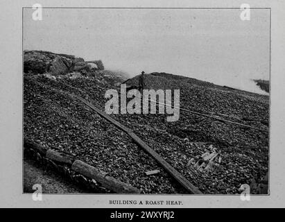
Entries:
{"label": "pale grey page margin surrounding the framed photograph", "polygon": [[[148,196],[148,195],[43,195],[33,201],[22,194],[22,71],[21,11],[41,3],[43,7],[205,7],[271,8],[270,94],[270,196]],[[0,207],[175,207],[173,205],[109,205],[109,200],[182,200],[176,207],[285,207],[283,147],[285,83],[285,4],[282,1],[1,1],[0,67]]]}

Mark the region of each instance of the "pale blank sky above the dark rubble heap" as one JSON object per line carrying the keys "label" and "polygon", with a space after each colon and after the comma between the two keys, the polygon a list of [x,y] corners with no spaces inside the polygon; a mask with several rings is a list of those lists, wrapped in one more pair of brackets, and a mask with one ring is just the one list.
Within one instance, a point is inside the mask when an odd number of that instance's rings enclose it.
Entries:
{"label": "pale blank sky above the dark rubble heap", "polygon": [[269,80],[270,14],[251,9],[24,9],[24,49],[103,61],[136,76],[166,72],[265,94]]}

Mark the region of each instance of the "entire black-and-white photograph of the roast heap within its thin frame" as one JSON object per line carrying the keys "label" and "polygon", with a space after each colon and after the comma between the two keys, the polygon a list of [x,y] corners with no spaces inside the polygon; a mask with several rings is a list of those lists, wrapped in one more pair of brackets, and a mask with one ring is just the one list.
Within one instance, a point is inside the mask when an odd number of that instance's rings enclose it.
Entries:
{"label": "entire black-and-white photograph of the roast heap within its thin frame", "polygon": [[269,8],[36,5],[22,28],[24,194],[270,194]]}

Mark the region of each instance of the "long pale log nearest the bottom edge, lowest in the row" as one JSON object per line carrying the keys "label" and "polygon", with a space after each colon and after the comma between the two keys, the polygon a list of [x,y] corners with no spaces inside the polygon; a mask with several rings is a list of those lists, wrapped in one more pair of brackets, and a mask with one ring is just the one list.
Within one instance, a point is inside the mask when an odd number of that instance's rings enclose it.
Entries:
{"label": "long pale log nearest the bottom edge, lowest in the row", "polygon": [[131,185],[127,185],[115,178],[107,176],[107,173],[101,173],[95,167],[86,164],[80,160],[74,161],[71,166],[71,169],[76,171],[77,173],[83,174],[89,178],[96,180],[102,187],[110,189],[118,194],[139,194],[140,190],[132,187]]}

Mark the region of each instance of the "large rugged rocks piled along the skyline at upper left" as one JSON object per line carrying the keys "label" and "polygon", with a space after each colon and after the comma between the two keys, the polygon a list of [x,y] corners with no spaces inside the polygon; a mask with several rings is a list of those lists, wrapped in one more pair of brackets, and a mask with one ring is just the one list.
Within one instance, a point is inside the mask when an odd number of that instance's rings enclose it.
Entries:
{"label": "large rugged rocks piled along the skyline at upper left", "polygon": [[[92,66],[88,63],[96,65]],[[57,76],[73,71],[90,71],[91,69],[103,70],[103,62],[101,60],[85,62],[83,58],[49,51],[24,51],[24,73],[44,74],[48,72]]]}

